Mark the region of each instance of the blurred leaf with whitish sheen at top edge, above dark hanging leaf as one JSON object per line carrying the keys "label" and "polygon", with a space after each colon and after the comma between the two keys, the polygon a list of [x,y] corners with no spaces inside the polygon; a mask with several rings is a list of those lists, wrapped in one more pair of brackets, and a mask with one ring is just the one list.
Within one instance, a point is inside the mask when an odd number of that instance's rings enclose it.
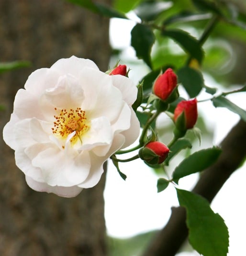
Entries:
{"label": "blurred leaf with whitish sheen at top edge, above dark hanging leaf", "polygon": [[172,6],[171,2],[143,2],[141,3],[134,12],[143,21],[153,21],[163,11],[169,9]]}

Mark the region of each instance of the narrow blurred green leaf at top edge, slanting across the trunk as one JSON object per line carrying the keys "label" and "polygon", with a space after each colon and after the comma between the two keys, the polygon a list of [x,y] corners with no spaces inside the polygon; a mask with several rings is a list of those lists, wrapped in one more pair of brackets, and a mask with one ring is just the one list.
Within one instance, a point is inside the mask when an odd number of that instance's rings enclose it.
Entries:
{"label": "narrow blurred green leaf at top edge, slanting across the trunk", "polygon": [[109,18],[127,19],[127,17],[109,6],[100,3],[93,3],[92,0],[67,0],[70,3],[77,4],[91,12],[99,13]]}

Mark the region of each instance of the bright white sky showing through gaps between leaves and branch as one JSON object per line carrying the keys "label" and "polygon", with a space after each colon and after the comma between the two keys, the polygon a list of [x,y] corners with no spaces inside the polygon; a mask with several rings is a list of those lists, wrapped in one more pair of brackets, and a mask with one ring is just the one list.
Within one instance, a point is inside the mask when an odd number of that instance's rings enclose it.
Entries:
{"label": "bright white sky showing through gaps between leaves and branch", "polygon": [[[133,26],[134,22],[112,19],[110,40],[114,48],[125,49],[125,54],[128,57],[130,54],[131,58],[135,60],[134,51],[129,48],[130,31]],[[130,78],[132,76],[135,83],[146,73],[146,68],[139,69],[139,66],[136,66],[134,69],[135,67],[131,64],[129,64],[129,68],[131,68]],[[213,84],[212,78],[206,77],[205,81],[211,87],[216,86]],[[228,98],[245,109],[245,96],[245,93],[240,93]],[[214,145],[218,145],[235,123],[239,121],[236,114],[224,108],[215,109],[211,102],[199,104],[199,111],[214,129]],[[178,206],[175,189],[169,185],[165,191],[157,193],[158,177],[142,160],[120,163],[120,168],[127,175],[126,181],[123,181],[112,163],[109,163],[104,192],[108,234],[115,237],[130,237],[137,233],[161,229],[169,219],[170,208]],[[245,251],[246,208],[242,200],[244,199],[245,171],[246,165],[237,170],[212,202],[213,211],[218,212],[223,217],[229,229],[228,256],[242,255],[242,252]],[[179,182],[180,188],[190,189],[196,181],[197,174],[183,178]],[[192,255],[198,254],[179,254],[179,256]]]}

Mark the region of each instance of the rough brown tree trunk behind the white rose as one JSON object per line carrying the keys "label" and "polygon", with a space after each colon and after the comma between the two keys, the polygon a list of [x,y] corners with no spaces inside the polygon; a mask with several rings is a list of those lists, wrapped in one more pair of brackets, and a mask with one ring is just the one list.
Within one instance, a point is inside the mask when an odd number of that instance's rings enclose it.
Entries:
{"label": "rough brown tree trunk behind the white rose", "polygon": [[[109,0],[104,0],[104,2]],[[28,60],[0,75],[1,130],[28,75],[71,55],[109,63],[108,20],[63,0],[1,0],[0,61]],[[0,255],[104,256],[105,175],[76,198],[39,193],[25,183],[13,151],[0,140]]]}

